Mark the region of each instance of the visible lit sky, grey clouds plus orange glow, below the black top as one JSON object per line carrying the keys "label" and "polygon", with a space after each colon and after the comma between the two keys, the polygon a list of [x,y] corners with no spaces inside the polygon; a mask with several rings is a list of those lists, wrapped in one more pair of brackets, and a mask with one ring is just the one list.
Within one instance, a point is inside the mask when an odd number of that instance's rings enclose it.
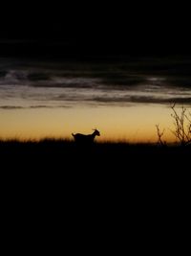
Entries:
{"label": "visible lit sky, grey clouds plus orange glow, below the black top", "polygon": [[0,58],[2,138],[70,138],[100,129],[100,140],[172,140],[171,106],[191,105],[190,58],[101,60]]}

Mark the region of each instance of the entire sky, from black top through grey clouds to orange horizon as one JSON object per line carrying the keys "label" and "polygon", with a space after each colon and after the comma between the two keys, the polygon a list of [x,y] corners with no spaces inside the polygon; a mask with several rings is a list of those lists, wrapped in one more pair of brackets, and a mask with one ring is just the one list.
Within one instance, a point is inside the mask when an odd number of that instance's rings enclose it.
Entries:
{"label": "entire sky, from black top through grey clouds to orange horizon", "polygon": [[173,139],[171,105],[191,105],[189,16],[32,7],[0,20],[1,138],[155,141],[159,124]]}

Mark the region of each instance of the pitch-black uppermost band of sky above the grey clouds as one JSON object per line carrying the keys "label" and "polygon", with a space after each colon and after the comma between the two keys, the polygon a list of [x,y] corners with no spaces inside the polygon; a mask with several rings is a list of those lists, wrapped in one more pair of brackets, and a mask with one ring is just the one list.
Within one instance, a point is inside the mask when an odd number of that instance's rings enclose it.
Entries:
{"label": "pitch-black uppermost band of sky above the grey clouds", "polygon": [[[190,53],[189,8],[180,3],[168,7],[162,2],[83,5],[69,1],[19,5],[17,1],[15,5],[8,3],[5,8],[2,5],[1,9],[0,38],[32,39],[43,43],[44,47],[28,48],[28,54],[37,52],[39,55],[43,48],[58,54],[62,48],[56,51],[50,42],[60,40],[67,44],[71,54]],[[5,48],[4,45],[1,51],[5,52]],[[10,49],[8,47],[7,51]],[[17,50],[12,53],[16,54]]]}

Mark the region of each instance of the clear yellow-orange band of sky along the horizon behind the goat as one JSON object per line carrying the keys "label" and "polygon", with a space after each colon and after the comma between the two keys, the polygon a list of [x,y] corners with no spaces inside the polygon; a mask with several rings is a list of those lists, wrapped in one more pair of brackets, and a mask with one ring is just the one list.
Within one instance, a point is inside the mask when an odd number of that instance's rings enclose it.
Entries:
{"label": "clear yellow-orange band of sky along the horizon behind the goat", "polygon": [[78,106],[69,108],[0,110],[0,138],[69,138],[97,128],[96,141],[157,142],[156,125],[165,128],[163,140],[175,141],[170,131],[171,109],[161,105]]}

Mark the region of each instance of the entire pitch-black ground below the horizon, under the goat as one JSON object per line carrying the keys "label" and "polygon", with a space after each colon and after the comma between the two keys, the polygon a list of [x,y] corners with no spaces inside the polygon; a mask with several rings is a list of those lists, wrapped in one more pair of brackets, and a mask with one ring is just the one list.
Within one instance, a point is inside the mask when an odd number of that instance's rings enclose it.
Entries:
{"label": "entire pitch-black ground below the horizon, under the goat", "polygon": [[4,238],[22,233],[22,246],[72,251],[182,251],[190,156],[190,147],[0,142]]}

